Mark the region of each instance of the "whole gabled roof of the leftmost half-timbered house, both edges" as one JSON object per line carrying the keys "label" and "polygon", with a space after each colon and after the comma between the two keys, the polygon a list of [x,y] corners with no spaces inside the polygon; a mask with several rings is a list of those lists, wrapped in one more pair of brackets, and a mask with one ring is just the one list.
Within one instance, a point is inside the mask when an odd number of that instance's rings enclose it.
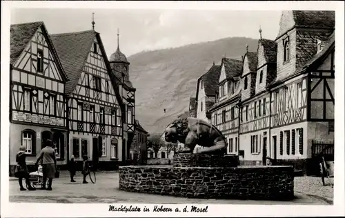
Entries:
{"label": "whole gabled roof of the leftmost half-timbered house, both edges", "polygon": [[57,50],[52,43],[52,39],[48,34],[46,26],[42,21],[33,22],[33,23],[19,23],[19,24],[12,24],[10,28],[10,63],[14,63],[19,58],[20,54],[28,45],[29,41],[34,37],[34,34],[37,30],[41,28],[41,31],[46,38],[46,42],[48,44],[50,52],[55,59],[55,63],[57,64],[57,68],[59,68],[59,72],[63,81],[68,81],[67,75],[65,70],[61,65],[61,61],[57,55]]}

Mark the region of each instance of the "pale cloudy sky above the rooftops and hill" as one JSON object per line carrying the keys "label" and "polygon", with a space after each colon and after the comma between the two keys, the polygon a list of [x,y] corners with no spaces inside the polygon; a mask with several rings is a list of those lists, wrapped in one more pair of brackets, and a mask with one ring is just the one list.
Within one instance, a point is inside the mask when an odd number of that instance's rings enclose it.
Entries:
{"label": "pale cloudy sky above the rooftops and hill", "polygon": [[117,48],[129,57],[144,50],[175,48],[226,37],[277,37],[281,11],[55,9],[26,8],[11,11],[10,23],[43,21],[50,34],[92,29],[101,34],[107,56]]}

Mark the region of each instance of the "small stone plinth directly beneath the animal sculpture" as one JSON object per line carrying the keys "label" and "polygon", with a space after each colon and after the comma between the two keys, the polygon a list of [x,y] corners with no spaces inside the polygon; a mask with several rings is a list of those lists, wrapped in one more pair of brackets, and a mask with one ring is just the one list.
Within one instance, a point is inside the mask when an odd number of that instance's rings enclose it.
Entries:
{"label": "small stone plinth directly beneath the animal sculpture", "polygon": [[206,155],[179,153],[174,155],[175,167],[237,167],[237,155]]}

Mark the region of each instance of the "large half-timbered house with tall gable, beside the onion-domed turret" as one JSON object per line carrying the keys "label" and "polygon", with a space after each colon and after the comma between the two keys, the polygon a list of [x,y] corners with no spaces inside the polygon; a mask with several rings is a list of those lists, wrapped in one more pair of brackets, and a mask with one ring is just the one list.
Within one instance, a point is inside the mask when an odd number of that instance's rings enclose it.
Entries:
{"label": "large half-timbered house with tall gable, beside the onion-domed turret", "polygon": [[126,157],[124,103],[95,30],[52,34],[69,81],[68,154],[81,161],[88,155],[98,168],[114,168]]}

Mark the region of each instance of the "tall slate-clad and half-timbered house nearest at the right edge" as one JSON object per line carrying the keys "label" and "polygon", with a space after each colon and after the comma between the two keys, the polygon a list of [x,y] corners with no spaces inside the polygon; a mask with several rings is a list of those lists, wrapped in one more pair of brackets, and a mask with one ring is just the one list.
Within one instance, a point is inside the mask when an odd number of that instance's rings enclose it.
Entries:
{"label": "tall slate-clad and half-timbered house nearest at the right edge", "polygon": [[307,173],[313,139],[334,139],[334,30],[335,12],[284,11],[275,39],[268,154]]}

